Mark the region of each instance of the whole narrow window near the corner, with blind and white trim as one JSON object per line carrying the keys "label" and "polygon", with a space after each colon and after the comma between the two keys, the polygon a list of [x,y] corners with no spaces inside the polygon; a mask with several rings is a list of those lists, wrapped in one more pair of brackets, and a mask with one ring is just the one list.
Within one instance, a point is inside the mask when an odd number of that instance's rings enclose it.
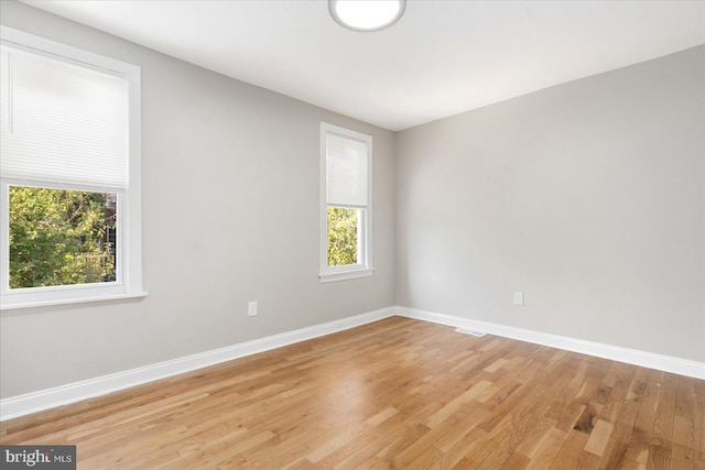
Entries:
{"label": "whole narrow window near the corner, with blind and white trim", "polygon": [[372,138],[321,123],[321,282],[369,276]]}

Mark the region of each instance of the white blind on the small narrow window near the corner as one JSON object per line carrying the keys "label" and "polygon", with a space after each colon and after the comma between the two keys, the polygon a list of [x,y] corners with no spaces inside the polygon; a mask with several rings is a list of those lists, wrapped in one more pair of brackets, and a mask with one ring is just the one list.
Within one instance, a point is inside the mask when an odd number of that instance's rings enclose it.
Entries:
{"label": "white blind on the small narrow window near the corner", "polygon": [[368,205],[367,143],[326,133],[326,198],[329,206]]}

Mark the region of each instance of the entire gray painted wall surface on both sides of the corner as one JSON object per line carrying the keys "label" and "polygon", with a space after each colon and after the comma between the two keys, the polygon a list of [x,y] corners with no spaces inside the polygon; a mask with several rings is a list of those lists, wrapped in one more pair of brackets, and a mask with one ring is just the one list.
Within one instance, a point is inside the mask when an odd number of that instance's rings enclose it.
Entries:
{"label": "entire gray painted wall surface on both sides of the corner", "polygon": [[[394,303],[705,361],[703,47],[393,134],[0,6],[142,67],[150,292],[0,314],[0,397]],[[319,121],[375,139],[371,277],[317,280]]]}

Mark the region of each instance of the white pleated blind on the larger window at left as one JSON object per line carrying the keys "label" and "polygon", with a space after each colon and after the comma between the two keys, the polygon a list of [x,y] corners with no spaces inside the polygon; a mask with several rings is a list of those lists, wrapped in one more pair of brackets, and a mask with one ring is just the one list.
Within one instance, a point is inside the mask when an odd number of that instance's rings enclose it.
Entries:
{"label": "white pleated blind on the larger window at left", "polygon": [[127,189],[127,80],[4,45],[1,63],[2,177]]}

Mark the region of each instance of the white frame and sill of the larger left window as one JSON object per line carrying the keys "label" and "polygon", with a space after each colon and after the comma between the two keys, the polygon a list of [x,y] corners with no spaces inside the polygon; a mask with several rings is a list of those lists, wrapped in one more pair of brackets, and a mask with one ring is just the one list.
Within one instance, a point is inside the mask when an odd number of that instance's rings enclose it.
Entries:
{"label": "white frame and sill of the larger left window", "polygon": [[[128,188],[101,188],[0,177],[0,310],[144,297],[141,241],[141,69],[139,66],[0,25],[0,43],[73,65],[121,77],[128,87]],[[117,194],[116,281],[46,287],[9,288],[9,187]]]}

